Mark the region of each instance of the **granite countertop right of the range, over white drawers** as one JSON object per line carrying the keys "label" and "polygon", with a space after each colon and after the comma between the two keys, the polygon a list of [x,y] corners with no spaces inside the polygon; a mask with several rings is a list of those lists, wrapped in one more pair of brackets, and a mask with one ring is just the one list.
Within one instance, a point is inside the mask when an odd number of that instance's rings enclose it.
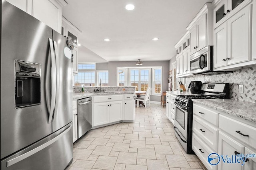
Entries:
{"label": "granite countertop right of the range, over white drawers", "polygon": [[232,99],[192,99],[194,103],[202,104],[230,115],[256,123],[256,104]]}

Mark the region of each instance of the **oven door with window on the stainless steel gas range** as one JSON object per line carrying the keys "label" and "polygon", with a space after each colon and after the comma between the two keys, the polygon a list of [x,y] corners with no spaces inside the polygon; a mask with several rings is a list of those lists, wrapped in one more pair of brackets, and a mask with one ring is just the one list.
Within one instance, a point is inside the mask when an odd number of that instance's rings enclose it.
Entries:
{"label": "oven door with window on the stainless steel gas range", "polygon": [[175,121],[174,126],[182,134],[182,136],[187,140],[188,133],[188,112],[182,109],[180,106],[176,105]]}

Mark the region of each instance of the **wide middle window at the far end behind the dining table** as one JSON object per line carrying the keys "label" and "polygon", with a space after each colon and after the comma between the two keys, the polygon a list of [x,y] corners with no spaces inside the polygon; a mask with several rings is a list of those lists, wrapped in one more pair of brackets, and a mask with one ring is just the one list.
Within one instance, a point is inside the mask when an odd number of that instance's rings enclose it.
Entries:
{"label": "wide middle window at the far end behind the dining table", "polygon": [[129,85],[137,86],[136,91],[146,91],[150,87],[150,69],[130,69]]}

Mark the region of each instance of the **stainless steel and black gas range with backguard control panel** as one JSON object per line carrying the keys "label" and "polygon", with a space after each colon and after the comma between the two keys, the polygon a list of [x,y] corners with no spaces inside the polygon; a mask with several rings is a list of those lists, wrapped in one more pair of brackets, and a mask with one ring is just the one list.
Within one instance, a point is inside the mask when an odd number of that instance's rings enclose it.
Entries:
{"label": "stainless steel and black gas range with backguard control panel", "polygon": [[174,100],[176,105],[174,131],[187,153],[194,153],[192,150],[192,99],[230,99],[229,93],[229,83],[203,83],[200,94],[176,96]]}

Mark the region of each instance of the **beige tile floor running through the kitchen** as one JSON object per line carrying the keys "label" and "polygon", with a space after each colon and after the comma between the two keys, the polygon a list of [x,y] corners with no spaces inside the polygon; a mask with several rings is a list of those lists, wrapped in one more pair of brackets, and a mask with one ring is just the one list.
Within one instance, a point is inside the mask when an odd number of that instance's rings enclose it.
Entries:
{"label": "beige tile floor running through the kitchen", "polygon": [[134,123],[90,130],[74,144],[66,170],[206,170],[183,150],[165,111],[157,104],[136,107]]}

